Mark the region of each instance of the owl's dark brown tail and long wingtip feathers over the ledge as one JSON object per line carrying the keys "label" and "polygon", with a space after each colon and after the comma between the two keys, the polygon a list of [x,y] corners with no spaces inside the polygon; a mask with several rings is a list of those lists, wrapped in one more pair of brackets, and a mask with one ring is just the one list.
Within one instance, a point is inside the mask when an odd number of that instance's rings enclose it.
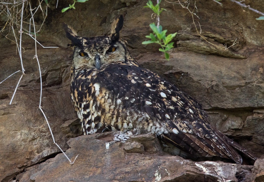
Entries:
{"label": "owl's dark brown tail and long wingtip feathers over the ledge", "polygon": [[[183,132],[180,132],[178,134],[163,133],[160,137],[161,140],[168,144],[168,146],[173,145],[177,147],[177,152],[181,151],[181,153],[184,154],[187,158],[189,158],[188,156],[191,156],[190,159],[192,160],[198,158],[205,158],[205,160],[208,160],[214,156],[225,159],[232,159],[238,164],[242,164],[242,156],[249,158],[251,160],[250,164],[252,164],[252,162],[254,163],[254,161],[256,160],[256,157],[250,154],[246,149],[220,133],[218,130],[215,131],[215,136],[210,139],[207,137],[200,137]],[[173,149],[167,151],[169,151],[169,153],[173,153],[172,150]],[[183,157],[185,157],[184,155]],[[215,157],[215,159],[218,158]]]}

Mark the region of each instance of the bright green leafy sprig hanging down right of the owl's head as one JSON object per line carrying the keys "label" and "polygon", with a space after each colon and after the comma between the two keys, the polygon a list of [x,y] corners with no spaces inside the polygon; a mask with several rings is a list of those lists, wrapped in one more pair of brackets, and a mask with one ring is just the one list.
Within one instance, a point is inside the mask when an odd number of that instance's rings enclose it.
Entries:
{"label": "bright green leafy sprig hanging down right of the owl's head", "polygon": [[150,40],[144,41],[142,42],[142,44],[152,44],[152,43],[156,43],[159,44],[161,46],[161,48],[159,48],[159,51],[164,52],[164,56],[166,60],[169,60],[169,54],[168,54],[168,50],[170,50],[171,48],[173,48],[173,44],[174,42],[170,42],[173,37],[176,36],[177,32],[169,34],[168,36],[166,36],[167,30],[163,30],[162,31],[162,26],[159,25],[159,15],[161,14],[162,11],[166,11],[166,9],[163,8],[159,8],[159,4],[161,3],[161,0],[157,0],[157,4],[154,6],[152,1],[148,1],[147,2],[147,8],[150,8],[156,15],[157,15],[157,26],[155,25],[155,23],[150,23],[150,28],[153,31],[153,33],[150,33],[149,35],[147,35],[146,37],[149,38]]}

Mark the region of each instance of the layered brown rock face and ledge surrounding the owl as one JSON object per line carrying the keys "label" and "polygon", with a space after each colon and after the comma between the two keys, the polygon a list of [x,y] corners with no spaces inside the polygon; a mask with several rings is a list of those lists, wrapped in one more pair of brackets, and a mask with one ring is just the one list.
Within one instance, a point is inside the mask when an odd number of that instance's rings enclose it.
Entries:
{"label": "layered brown rock face and ledge surrounding the owl", "polygon": [[[76,3],[76,10],[61,13],[69,3],[72,2],[59,1],[57,9],[50,4],[45,31],[37,40],[58,48],[37,46],[37,55],[43,84],[41,106],[55,141],[71,159],[79,156],[70,165],[53,144],[38,109],[40,75],[33,59],[34,42],[23,34],[26,72],[11,105],[21,73],[0,84],[0,181],[263,181],[264,30],[263,22],[255,20],[257,14],[243,11],[229,1],[223,7],[213,1],[196,2],[202,38],[195,28],[199,27],[197,17],[194,16],[194,25],[186,8],[162,1],[161,7],[167,11],[161,14],[161,25],[168,33],[178,32],[173,40],[175,48],[169,52],[171,59],[166,61],[157,46],[141,44],[150,33],[149,23],[155,21],[151,19],[152,12],[143,8],[145,1],[88,1]],[[261,0],[246,3],[264,11]],[[193,7],[191,2],[189,8]],[[120,37],[128,42],[141,66],[161,74],[200,102],[214,127],[260,158],[254,166],[193,162],[170,156],[149,135],[126,143],[113,142],[113,133],[81,136],[69,97],[72,49],[67,47],[69,41],[60,22],[73,26],[80,36],[97,36],[109,31],[118,14],[125,17]],[[36,16],[35,21],[41,22],[42,15]],[[0,27],[5,23],[1,15]],[[223,47],[235,39],[238,44],[222,50],[204,39]],[[21,65],[16,45],[1,36],[0,47],[2,81],[20,70]]]}

